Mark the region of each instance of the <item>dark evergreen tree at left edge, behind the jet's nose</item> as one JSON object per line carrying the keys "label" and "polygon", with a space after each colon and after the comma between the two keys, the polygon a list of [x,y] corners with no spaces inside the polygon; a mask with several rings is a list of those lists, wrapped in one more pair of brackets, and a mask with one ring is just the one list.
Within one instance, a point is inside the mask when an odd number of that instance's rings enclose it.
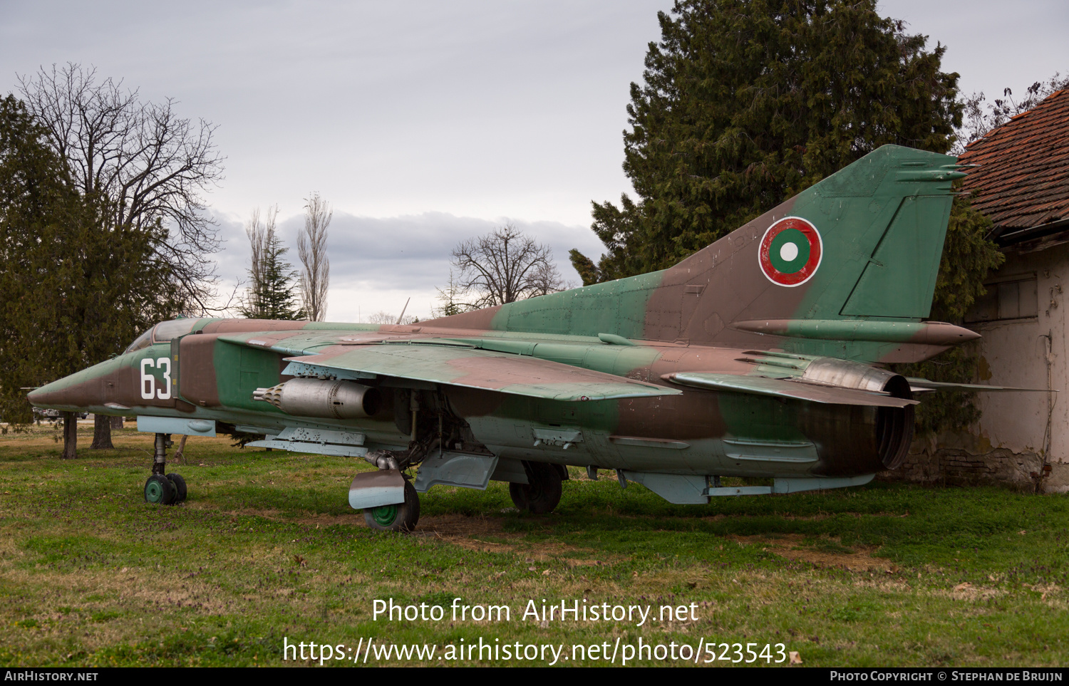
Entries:
{"label": "dark evergreen tree at left edge, behind the jet's nose", "polygon": [[113,225],[109,200],[81,194],[45,136],[0,100],[0,412],[16,423],[31,419],[21,387],[107,359],[179,307],[153,250],[162,227]]}

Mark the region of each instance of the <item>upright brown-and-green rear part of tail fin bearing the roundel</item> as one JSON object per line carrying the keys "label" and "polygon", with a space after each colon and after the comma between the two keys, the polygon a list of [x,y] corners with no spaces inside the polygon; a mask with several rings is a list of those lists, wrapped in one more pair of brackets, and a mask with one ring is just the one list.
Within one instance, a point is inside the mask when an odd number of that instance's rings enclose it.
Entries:
{"label": "upright brown-and-green rear part of tail fin bearing the roundel", "polygon": [[872,340],[843,331],[873,319],[883,324],[862,328],[905,341],[931,310],[956,162],[884,145],[667,269],[649,309],[681,301],[679,338],[691,342],[757,346],[742,333],[773,321],[762,332]]}

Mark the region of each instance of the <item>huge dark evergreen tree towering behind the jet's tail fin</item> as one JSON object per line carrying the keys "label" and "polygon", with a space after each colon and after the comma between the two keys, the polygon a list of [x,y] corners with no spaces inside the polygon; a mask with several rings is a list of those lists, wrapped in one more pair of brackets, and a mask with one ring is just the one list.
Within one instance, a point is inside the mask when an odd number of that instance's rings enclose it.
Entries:
{"label": "huge dark evergreen tree towering behind the jet's tail fin", "polygon": [[[945,152],[961,124],[944,47],[874,0],[679,0],[631,85],[623,168],[594,204],[584,282],[670,266],[885,143]],[[587,267],[579,269],[579,266]]]}

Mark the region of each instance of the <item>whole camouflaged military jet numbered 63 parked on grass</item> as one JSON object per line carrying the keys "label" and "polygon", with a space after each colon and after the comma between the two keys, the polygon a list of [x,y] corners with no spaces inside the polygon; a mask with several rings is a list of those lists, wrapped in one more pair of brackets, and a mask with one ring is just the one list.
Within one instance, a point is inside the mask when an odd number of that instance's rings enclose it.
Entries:
{"label": "whole camouflaged military jet numbered 63 parked on grass", "polygon": [[675,503],[864,484],[905,456],[915,392],[997,390],[885,368],[977,338],[925,321],[956,162],[886,145],[671,268],[413,326],[162,322],[30,401],[136,416],[154,503],[186,496],[174,434],[362,457],[350,504],[393,531],[437,484],[549,512],[568,465]]}

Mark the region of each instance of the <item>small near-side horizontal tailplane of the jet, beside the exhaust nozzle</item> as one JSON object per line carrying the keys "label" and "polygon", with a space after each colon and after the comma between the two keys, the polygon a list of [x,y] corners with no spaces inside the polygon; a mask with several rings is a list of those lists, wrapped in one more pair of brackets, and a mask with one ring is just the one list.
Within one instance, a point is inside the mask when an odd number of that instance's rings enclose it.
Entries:
{"label": "small near-side horizontal tailplane of the jet, beside the exhaust nozzle", "polygon": [[711,391],[728,391],[734,393],[754,393],[756,395],[772,395],[775,397],[792,397],[795,400],[824,403],[828,405],[869,405],[872,407],[905,407],[916,405],[917,401],[904,397],[894,397],[882,393],[852,388],[838,388],[804,381],[790,381],[781,378],[765,378],[763,376],[739,376],[733,374],[706,374],[699,372],[676,372],[665,374],[661,378],[666,381],[703,388]]}

